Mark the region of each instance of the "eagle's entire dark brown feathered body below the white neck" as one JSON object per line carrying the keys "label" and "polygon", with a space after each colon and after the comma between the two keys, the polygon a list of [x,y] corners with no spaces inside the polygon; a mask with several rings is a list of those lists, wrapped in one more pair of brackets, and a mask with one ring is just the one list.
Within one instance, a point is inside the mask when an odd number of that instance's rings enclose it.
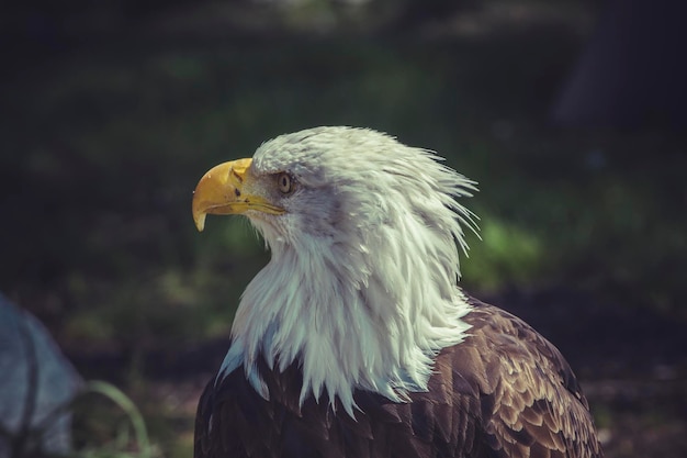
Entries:
{"label": "eagle's entire dark brown feathered body below the white neck", "polygon": [[570,366],[521,320],[471,300],[462,343],[436,358],[429,391],[394,403],[356,393],[356,421],[311,396],[299,405],[301,369],[260,367],[270,400],[243,367],[199,404],[195,458],[601,457],[587,401]]}

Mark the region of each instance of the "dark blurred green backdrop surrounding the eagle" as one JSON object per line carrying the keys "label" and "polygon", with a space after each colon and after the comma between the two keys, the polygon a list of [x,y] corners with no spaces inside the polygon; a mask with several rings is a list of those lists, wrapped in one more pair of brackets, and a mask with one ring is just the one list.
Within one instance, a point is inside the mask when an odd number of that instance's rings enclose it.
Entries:
{"label": "dark blurred green backdrop surrounding the eagle", "polygon": [[[0,291],[85,378],[131,396],[157,456],[189,457],[200,390],[269,258],[241,219],[195,232],[198,179],[281,133],[372,127],[480,182],[465,204],[482,239],[470,241],[463,286],[562,349],[607,456],[685,457],[685,10],[679,0],[4,5]],[[116,414],[94,405],[77,409],[77,450],[116,431]]]}

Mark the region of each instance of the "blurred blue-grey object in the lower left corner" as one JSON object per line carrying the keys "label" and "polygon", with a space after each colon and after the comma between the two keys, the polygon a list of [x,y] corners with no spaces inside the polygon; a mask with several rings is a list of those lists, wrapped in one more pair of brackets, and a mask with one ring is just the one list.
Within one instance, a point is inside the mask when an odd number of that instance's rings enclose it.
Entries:
{"label": "blurred blue-grey object in the lower left corner", "polygon": [[38,320],[0,294],[0,458],[69,453],[82,384]]}

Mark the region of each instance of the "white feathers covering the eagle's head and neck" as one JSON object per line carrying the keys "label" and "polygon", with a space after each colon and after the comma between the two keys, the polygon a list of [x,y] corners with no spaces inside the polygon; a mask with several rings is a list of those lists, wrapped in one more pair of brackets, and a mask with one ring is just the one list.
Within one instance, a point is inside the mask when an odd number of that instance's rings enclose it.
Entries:
{"label": "white feathers covering the eagle's head and neck", "polygon": [[283,215],[249,212],[272,259],[246,288],[219,377],[244,365],[283,370],[299,360],[301,402],[338,398],[352,416],[353,391],[402,402],[427,389],[432,358],[461,342],[469,311],[459,249],[473,215],[455,198],[473,181],[430,152],[379,132],[317,127],[262,144],[257,177],[289,172],[296,190]]}

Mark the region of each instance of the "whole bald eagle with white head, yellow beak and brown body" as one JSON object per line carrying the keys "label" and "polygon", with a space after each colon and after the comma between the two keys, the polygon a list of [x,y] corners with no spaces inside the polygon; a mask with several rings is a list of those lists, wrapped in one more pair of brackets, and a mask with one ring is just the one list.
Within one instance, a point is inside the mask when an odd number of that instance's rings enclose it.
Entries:
{"label": "whole bald eagle with white head, yellow beak and brown body", "polygon": [[570,366],[458,286],[475,183],[385,134],[316,127],[200,180],[270,262],[198,407],[196,458],[601,457]]}

